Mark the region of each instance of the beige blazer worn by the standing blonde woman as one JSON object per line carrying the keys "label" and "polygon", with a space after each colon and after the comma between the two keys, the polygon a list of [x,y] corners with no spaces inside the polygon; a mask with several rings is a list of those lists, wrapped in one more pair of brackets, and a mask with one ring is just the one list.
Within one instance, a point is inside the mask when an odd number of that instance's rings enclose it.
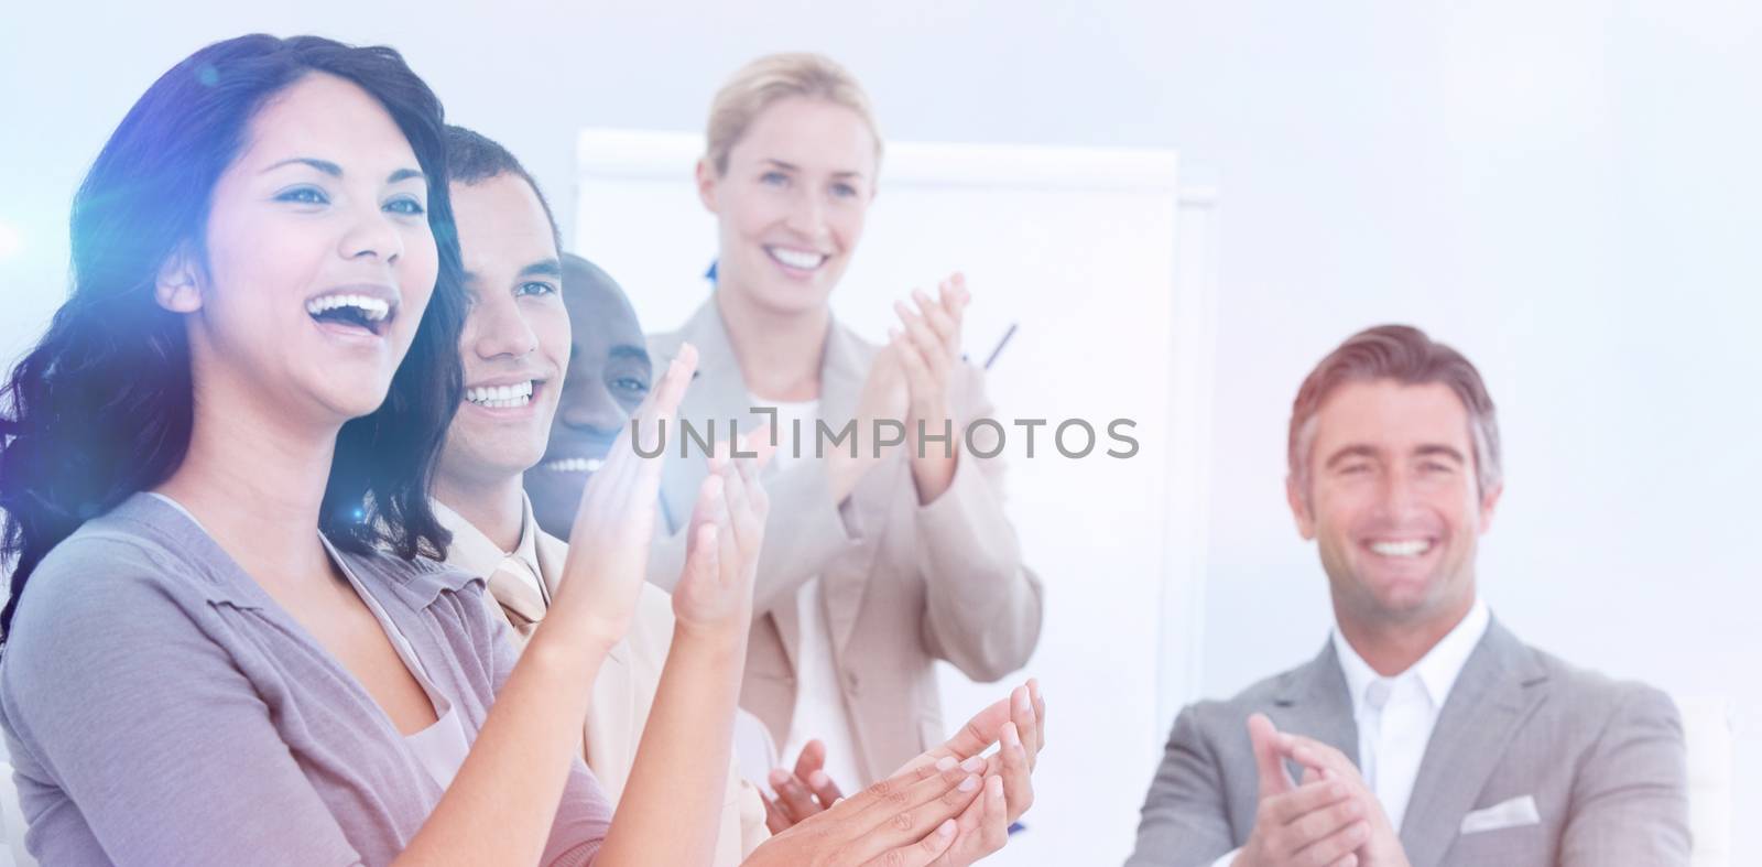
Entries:
{"label": "beige blazer worn by the standing blonde woman", "polygon": [[[722,439],[728,419],[740,419],[744,430],[763,423],[749,411],[745,379],[714,296],[678,331],[652,337],[648,352],[655,365],[666,365],[687,340],[698,347],[698,375],[678,418],[700,430],[714,419]],[[819,391],[819,414],[828,425],[842,426],[855,416],[877,349],[832,324]],[[962,365],[953,414],[957,437],[966,421],[992,414],[978,368]],[[946,659],[983,682],[1027,664],[1040,640],[1041,583],[1022,566],[1022,548],[1003,509],[1003,460],[974,458],[962,448],[953,485],[920,506],[909,456],[892,449],[837,504],[825,462],[812,460],[814,435],[805,428],[805,460],[782,472],[766,467],[763,476],[770,520],[740,703],[765,721],[779,744],[788,740],[800,643],[795,599],[818,574],[860,752],[855,760],[865,777],[860,782],[867,786],[944,740],[934,661]],[[707,472],[700,451],[678,458],[677,434],[668,432],[661,483],[664,536],[650,555],[650,580],[668,589],[684,566],[682,529]],[[869,432],[858,435],[869,442]],[[779,442],[788,446],[788,437],[782,432]],[[981,448],[990,451],[988,444]],[[784,763],[791,760],[784,756]]]}

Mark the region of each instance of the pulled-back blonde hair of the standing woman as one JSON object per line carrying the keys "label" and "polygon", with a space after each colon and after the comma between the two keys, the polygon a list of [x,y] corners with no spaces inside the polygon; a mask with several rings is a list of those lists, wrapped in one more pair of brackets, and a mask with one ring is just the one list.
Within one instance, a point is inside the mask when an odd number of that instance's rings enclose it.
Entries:
{"label": "pulled-back blonde hair of the standing woman", "polygon": [[784,53],[761,56],[737,70],[710,102],[710,127],[705,132],[705,159],[715,173],[728,171],[728,152],[747,134],[752,122],[775,102],[789,97],[821,99],[844,106],[863,118],[876,139],[881,159],[881,130],[876,125],[869,93],[856,78],[825,55]]}

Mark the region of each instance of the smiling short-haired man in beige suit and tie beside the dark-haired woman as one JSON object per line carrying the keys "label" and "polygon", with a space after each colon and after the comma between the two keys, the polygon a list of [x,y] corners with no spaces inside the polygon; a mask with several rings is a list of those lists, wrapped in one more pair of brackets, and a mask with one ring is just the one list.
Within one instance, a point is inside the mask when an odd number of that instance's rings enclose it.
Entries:
{"label": "smiling short-haired man in beige suit and tie beside the dark-haired woman", "polygon": [[[539,527],[522,479],[539,463],[559,396],[587,358],[571,342],[555,222],[530,176],[504,148],[456,127],[448,159],[472,307],[460,337],[465,405],[437,467],[435,515],[453,532],[446,562],[483,574],[525,638],[544,619],[569,548]],[[599,670],[583,733],[587,763],[613,802],[629,782],[671,640],[668,594],[647,585],[629,633]],[[758,789],[731,768],[714,863],[738,863],[766,837]]]}

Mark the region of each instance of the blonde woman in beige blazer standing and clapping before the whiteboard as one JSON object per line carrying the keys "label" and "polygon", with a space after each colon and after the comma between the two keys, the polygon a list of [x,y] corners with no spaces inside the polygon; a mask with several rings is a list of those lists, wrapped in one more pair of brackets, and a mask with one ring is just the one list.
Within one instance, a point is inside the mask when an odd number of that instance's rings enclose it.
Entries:
{"label": "blonde woman in beige blazer standing and clapping before the whiteboard", "polygon": [[[700,428],[742,419],[751,430],[763,421],[751,407],[777,411],[742,707],[786,758],[825,742],[798,774],[770,781],[811,812],[943,740],[936,659],[985,682],[1022,668],[1040,638],[1041,582],[1003,509],[1003,463],[962,442],[966,423],[992,412],[960,356],[962,277],[899,301],[886,345],[828,307],[877,190],[881,137],[862,86],[818,55],[759,58],[715,95],[707,139],[696,178],[719,224],[715,293],[684,328],[652,337],[650,354],[666,363],[698,347],[680,418]],[[904,423],[907,446],[877,455],[876,419]],[[855,455],[846,441],[821,456],[819,425],[849,421]],[[918,449],[920,426],[953,437]],[[701,462],[671,462],[663,481],[673,536],[650,569],[663,587],[684,562],[701,474]],[[1043,710],[1038,685],[1018,701]],[[1011,793],[1011,819],[1025,800]]]}

